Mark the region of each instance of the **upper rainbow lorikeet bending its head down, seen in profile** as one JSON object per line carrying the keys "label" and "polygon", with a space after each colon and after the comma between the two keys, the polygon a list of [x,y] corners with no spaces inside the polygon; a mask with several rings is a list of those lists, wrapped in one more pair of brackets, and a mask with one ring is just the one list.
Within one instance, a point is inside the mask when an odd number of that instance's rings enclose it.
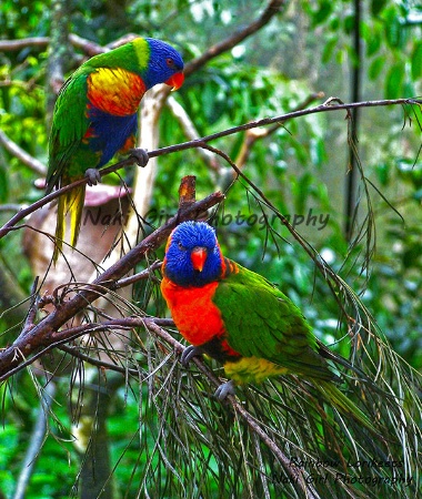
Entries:
{"label": "upper rainbow lorikeet bending its head down, seen in profile", "polygon": [[[137,111],[147,90],[158,83],[175,90],[183,79],[179,52],[152,38],[138,38],[84,62],[66,81],[56,102],[47,193],[83,176],[89,177],[90,185],[96,184],[100,180],[98,169],[117,152],[134,147]],[[141,161],[147,164],[147,153]],[[69,212],[70,244],[77,244],[84,192],[83,184],[59,197],[54,262],[62,248]]]}

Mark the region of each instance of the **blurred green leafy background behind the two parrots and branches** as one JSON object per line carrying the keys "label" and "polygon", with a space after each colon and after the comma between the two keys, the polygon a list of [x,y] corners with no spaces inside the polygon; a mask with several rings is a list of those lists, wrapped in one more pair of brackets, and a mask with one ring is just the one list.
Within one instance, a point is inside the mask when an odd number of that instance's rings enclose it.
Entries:
{"label": "blurred green leafy background behind the two parrots and branches", "polygon": [[[361,6],[360,61],[356,60],[352,41],[355,2],[292,1],[287,2],[284,10],[255,35],[194,72],[172,98],[182,104],[199,134],[207,135],[250,120],[283,114],[301,106],[315,92],[348,102],[352,94],[351,72],[353,64],[358,63],[361,64],[362,100],[421,95],[422,10],[412,1],[362,3],[365,4]],[[29,37],[40,40],[54,34],[52,14],[58,4],[68,11],[69,31],[83,39],[104,45],[129,32],[162,38],[178,47],[185,61],[200,55],[259,14],[258,2],[249,0],[234,3],[98,0],[89,2],[89,6],[82,1],[4,0],[0,7],[0,42]],[[74,44],[68,44],[66,50],[70,57],[66,59],[69,67],[64,71],[69,73],[78,67],[84,53]],[[49,58],[47,42],[28,43],[19,50],[0,52],[1,132],[44,164],[49,126],[47,102],[52,94],[47,81]],[[269,138],[254,143],[243,170],[281,213],[291,215],[291,222],[294,215],[303,216],[302,224],[295,228],[346,278],[394,350],[418,370],[422,367],[421,122],[418,106],[368,108],[361,111],[354,142],[360,164],[370,182],[365,185],[370,189],[371,205],[368,210],[368,196],[361,183],[358,197],[362,203],[354,233],[358,237],[354,241],[352,237],[352,246],[344,236],[345,200],[353,195],[344,186],[349,157],[344,113],[313,114],[287,122]],[[161,115],[160,133],[161,145],[185,140],[169,110]],[[243,135],[237,134],[220,140],[217,146],[235,159],[242,143]],[[215,189],[227,189],[232,179],[228,165],[221,165],[217,174],[195,150],[161,157],[150,212],[153,225],[160,225],[160,220],[154,218],[155,213],[165,217],[175,212],[180,179],[185,174],[197,175],[198,198]],[[127,175],[130,181],[131,171]],[[42,192],[34,187],[37,177],[39,174],[33,169],[6,147],[0,149],[1,223],[7,222],[19,206],[42,196]],[[375,234],[368,232],[368,213],[374,217],[376,227],[375,251]],[[322,227],[318,222],[313,225],[313,218],[309,218],[307,224],[308,216],[312,215],[322,216],[328,221],[326,225]],[[217,213],[225,254],[280,284],[302,308],[315,334],[325,343],[334,340],[339,327],[336,302],[326,296],[325,284],[315,276],[313,263],[304,252],[298,251],[280,221],[273,220],[272,227],[290,244],[281,238],[277,238],[278,245],[271,238],[267,240],[268,227],[264,227],[261,216],[260,206],[247,193],[245,183],[237,182],[224,206]],[[361,237],[359,227],[364,227]],[[162,257],[162,248],[157,256]],[[21,231],[10,233],[0,241],[0,342],[7,346],[19,333],[28,309],[28,304],[21,307],[16,305],[28,297],[33,282],[21,249]],[[151,314],[162,310],[162,303],[150,283],[137,286],[133,297],[141,308]],[[150,345],[150,338],[143,340],[147,349],[158,348]],[[104,345],[100,347],[107,348]],[[339,352],[348,355],[349,352],[342,352],[342,348],[340,345]],[[58,361],[60,355],[64,354],[51,354],[51,363]],[[137,357],[137,354],[133,355]],[[142,356],[138,357],[142,361]],[[175,358],[172,360],[161,366],[157,375],[163,387],[177,383],[177,379],[181,385],[185,381],[183,369]],[[71,391],[71,406],[78,407],[79,387],[70,376],[74,373],[72,367],[79,369],[81,365],[68,357],[63,363],[66,366],[57,378],[56,403],[52,405],[57,418],[50,418],[50,431],[39,455],[27,498],[69,497],[72,487],[74,493],[79,493],[76,485],[84,449],[80,451],[73,445],[72,435],[78,430],[71,425],[79,420],[81,414],[68,410],[67,396]],[[151,366],[148,364],[147,367]],[[112,384],[110,377],[105,380],[97,369],[89,376],[93,378],[89,379],[87,374],[86,394],[91,385]],[[199,377],[197,384],[204,383],[201,379]],[[41,410],[38,383],[33,374],[22,371],[2,388],[0,489],[6,497],[12,497],[16,490],[28,440]],[[203,390],[211,391],[212,388],[205,387]],[[271,388],[264,387],[262,390],[262,399],[270,399]],[[270,390],[270,395],[265,390]],[[222,490],[237,490],[233,497],[247,497],[247,487],[243,489],[234,479],[239,470],[221,469],[224,452],[215,457],[209,451],[213,446],[208,441],[212,437],[212,421],[222,427],[233,427],[248,446],[250,441],[243,434],[244,429],[217,403],[189,400],[189,394],[183,393],[179,385],[175,393],[179,395],[179,404],[173,408],[175,421],[179,421],[177,408],[180,410],[179,417],[184,418],[188,414],[187,406],[181,401],[191,406],[193,414],[197,410],[202,415],[213,413],[207,421],[198,418],[189,422],[192,426],[203,425],[202,444],[187,437],[187,462],[192,460],[197,469],[208,470],[202,490],[208,492],[208,497],[221,497]],[[96,397],[98,394],[93,395],[93,404],[98,404]],[[113,467],[110,480],[114,480],[114,497],[135,497],[147,482],[150,483],[150,497],[170,497],[162,491],[172,490],[175,493],[178,487],[178,497],[184,497],[182,481],[189,481],[189,477],[174,485],[177,472],[172,475],[160,461],[167,456],[172,462],[172,456],[165,452],[171,452],[177,442],[171,442],[169,437],[169,447],[160,449],[160,457],[154,448],[158,436],[163,431],[157,415],[164,410],[168,403],[161,391],[151,397],[145,384],[138,386],[132,380],[119,386],[117,381],[107,417]],[[189,417],[192,417],[191,413]],[[168,424],[165,428],[172,435],[171,428],[178,424],[173,420]],[[188,424],[174,429],[173,435],[183,431],[189,432]],[[221,448],[221,442],[213,444],[214,448]],[[151,455],[140,454],[140,447],[151,449]],[[242,466],[239,462],[239,467]],[[213,471],[210,472],[210,469]],[[194,472],[193,465],[190,472]],[[231,486],[221,482],[223,473]],[[169,485],[172,480],[174,483]],[[281,493],[280,490],[278,492]],[[144,497],[142,493],[140,497]],[[198,497],[203,497],[199,489]]]}

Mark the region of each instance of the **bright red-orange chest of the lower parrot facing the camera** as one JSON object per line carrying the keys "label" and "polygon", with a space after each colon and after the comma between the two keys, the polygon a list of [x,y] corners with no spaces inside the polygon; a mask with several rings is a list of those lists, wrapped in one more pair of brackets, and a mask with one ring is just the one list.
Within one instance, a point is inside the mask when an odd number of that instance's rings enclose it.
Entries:
{"label": "bright red-orange chest of the lower parrot facing the camera", "polygon": [[224,333],[220,310],[212,303],[217,286],[218,283],[211,283],[203,287],[185,288],[165,277],[162,279],[161,291],[174,324],[182,336],[194,346]]}

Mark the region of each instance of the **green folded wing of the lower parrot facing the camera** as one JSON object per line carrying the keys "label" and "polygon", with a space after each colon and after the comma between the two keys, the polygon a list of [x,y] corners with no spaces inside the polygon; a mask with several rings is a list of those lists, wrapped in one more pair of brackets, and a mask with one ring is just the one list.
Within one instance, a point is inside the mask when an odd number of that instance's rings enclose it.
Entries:
{"label": "green folded wing of the lower parrot facing the camera", "polygon": [[229,345],[243,357],[265,358],[291,374],[333,379],[300,309],[264,277],[238,267],[239,273],[220,282],[213,298]]}

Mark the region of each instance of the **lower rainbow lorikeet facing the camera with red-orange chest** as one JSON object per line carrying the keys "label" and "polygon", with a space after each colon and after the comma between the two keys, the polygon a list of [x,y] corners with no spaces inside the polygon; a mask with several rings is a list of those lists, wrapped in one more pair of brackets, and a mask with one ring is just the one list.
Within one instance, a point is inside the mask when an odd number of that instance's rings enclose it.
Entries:
{"label": "lower rainbow lorikeet facing the camera with red-orange chest", "polygon": [[312,381],[338,409],[373,430],[366,416],[334,385],[340,378],[326,359],[346,364],[312,333],[300,309],[264,277],[221,253],[214,230],[203,222],[183,222],[165,247],[161,292],[181,335],[192,345],[187,364],[205,354],[223,364],[230,381],[215,396],[224,399],[234,386],[293,374]]}

